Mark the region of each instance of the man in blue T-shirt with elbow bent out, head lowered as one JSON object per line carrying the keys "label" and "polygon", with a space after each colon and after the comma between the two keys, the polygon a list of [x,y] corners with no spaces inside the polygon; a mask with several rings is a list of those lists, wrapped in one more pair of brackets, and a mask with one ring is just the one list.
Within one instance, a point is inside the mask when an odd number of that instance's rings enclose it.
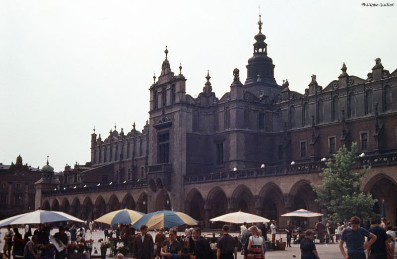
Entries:
{"label": "man in blue T-shirt with elbow bent out, head lowered", "polygon": [[[375,243],[377,237],[368,232],[365,228],[360,227],[360,218],[353,216],[350,218],[350,227],[345,228],[339,241],[339,250],[345,259],[365,259],[364,250]],[[364,244],[364,237],[370,237],[368,243]],[[347,254],[344,251],[343,244],[346,242]]]}

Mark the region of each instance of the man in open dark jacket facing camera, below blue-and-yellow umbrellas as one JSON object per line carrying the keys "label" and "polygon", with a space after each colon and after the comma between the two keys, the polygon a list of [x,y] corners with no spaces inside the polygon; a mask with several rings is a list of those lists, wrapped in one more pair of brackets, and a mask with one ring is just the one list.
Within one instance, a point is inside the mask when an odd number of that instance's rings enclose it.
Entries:
{"label": "man in open dark jacket facing camera, below blue-and-yellow umbrellas", "polygon": [[147,233],[147,226],[140,226],[140,234],[133,239],[133,259],[153,259],[154,243],[153,238]]}

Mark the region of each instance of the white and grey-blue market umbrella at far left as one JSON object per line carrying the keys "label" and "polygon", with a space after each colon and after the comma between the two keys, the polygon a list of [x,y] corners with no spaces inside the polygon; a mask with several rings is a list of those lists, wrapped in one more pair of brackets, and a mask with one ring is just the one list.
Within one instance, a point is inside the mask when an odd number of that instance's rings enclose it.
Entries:
{"label": "white and grey-blue market umbrella at far left", "polygon": [[83,220],[76,218],[61,211],[48,211],[48,210],[35,210],[24,214],[12,216],[3,220],[0,220],[0,227],[7,225],[20,225],[20,224],[41,224],[46,222],[56,221],[76,221],[84,222]]}

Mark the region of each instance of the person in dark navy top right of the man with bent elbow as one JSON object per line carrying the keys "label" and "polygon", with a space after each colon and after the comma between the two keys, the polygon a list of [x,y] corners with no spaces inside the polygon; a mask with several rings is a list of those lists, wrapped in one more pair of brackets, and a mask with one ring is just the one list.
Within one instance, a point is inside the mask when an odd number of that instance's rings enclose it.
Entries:
{"label": "person in dark navy top right of the man with bent elbow", "polygon": [[371,228],[368,231],[373,233],[377,239],[371,248],[367,248],[367,257],[369,255],[370,259],[387,259],[386,230],[380,227],[379,223],[379,217],[371,218]]}

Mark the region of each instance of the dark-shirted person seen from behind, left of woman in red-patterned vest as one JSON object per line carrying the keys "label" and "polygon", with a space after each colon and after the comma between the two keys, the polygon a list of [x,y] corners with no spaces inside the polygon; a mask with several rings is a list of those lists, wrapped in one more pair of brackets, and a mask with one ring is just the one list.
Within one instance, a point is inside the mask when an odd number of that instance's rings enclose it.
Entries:
{"label": "dark-shirted person seen from behind, left of woman in red-patterned vest", "polygon": [[223,236],[218,239],[216,244],[216,259],[237,259],[237,242],[229,235],[230,226],[223,225]]}

